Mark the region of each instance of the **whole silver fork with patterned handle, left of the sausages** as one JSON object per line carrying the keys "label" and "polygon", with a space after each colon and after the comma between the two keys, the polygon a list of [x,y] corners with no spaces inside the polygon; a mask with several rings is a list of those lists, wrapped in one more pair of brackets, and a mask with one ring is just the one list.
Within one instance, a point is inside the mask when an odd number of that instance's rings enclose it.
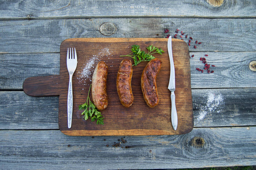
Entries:
{"label": "whole silver fork with patterned handle, left of the sausages", "polygon": [[69,71],[69,91],[68,91],[68,128],[72,125],[72,114],[73,114],[73,90],[72,90],[72,77],[77,69],[77,52],[75,48],[68,48],[66,54],[66,67]]}

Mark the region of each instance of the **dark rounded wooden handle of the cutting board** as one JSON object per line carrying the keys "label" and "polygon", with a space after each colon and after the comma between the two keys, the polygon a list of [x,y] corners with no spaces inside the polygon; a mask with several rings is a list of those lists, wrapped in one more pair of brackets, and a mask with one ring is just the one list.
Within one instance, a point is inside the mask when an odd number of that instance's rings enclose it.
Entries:
{"label": "dark rounded wooden handle of the cutting board", "polygon": [[29,96],[60,96],[60,75],[27,78],[23,83],[23,91]]}

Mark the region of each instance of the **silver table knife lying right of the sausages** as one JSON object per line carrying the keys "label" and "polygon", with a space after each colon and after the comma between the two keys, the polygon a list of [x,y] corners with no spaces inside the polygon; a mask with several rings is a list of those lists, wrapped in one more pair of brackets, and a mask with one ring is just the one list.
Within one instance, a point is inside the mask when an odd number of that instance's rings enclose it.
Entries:
{"label": "silver table knife lying right of the sausages", "polygon": [[170,80],[169,80],[169,86],[168,89],[171,91],[171,124],[173,125],[173,129],[177,130],[178,126],[178,116],[177,116],[177,110],[175,105],[175,69],[174,69],[174,62],[173,62],[173,49],[171,47],[171,36],[168,39],[167,42],[167,49],[170,59]]}

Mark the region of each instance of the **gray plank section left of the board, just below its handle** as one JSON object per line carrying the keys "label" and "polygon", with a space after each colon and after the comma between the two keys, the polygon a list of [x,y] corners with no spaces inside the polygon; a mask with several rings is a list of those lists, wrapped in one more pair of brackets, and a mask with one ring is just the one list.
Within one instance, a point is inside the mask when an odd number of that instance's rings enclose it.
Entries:
{"label": "gray plank section left of the board, just below its handle", "polygon": [[58,129],[58,97],[0,92],[0,129]]}

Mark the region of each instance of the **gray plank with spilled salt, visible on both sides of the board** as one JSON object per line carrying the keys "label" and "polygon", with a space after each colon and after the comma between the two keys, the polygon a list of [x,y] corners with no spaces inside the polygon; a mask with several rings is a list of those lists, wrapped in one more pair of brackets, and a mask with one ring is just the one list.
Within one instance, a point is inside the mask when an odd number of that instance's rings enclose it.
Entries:
{"label": "gray plank with spilled salt, visible on both sides of the board", "polygon": [[[192,90],[194,127],[255,126],[255,88]],[[58,129],[58,97],[0,92],[0,129]]]}

